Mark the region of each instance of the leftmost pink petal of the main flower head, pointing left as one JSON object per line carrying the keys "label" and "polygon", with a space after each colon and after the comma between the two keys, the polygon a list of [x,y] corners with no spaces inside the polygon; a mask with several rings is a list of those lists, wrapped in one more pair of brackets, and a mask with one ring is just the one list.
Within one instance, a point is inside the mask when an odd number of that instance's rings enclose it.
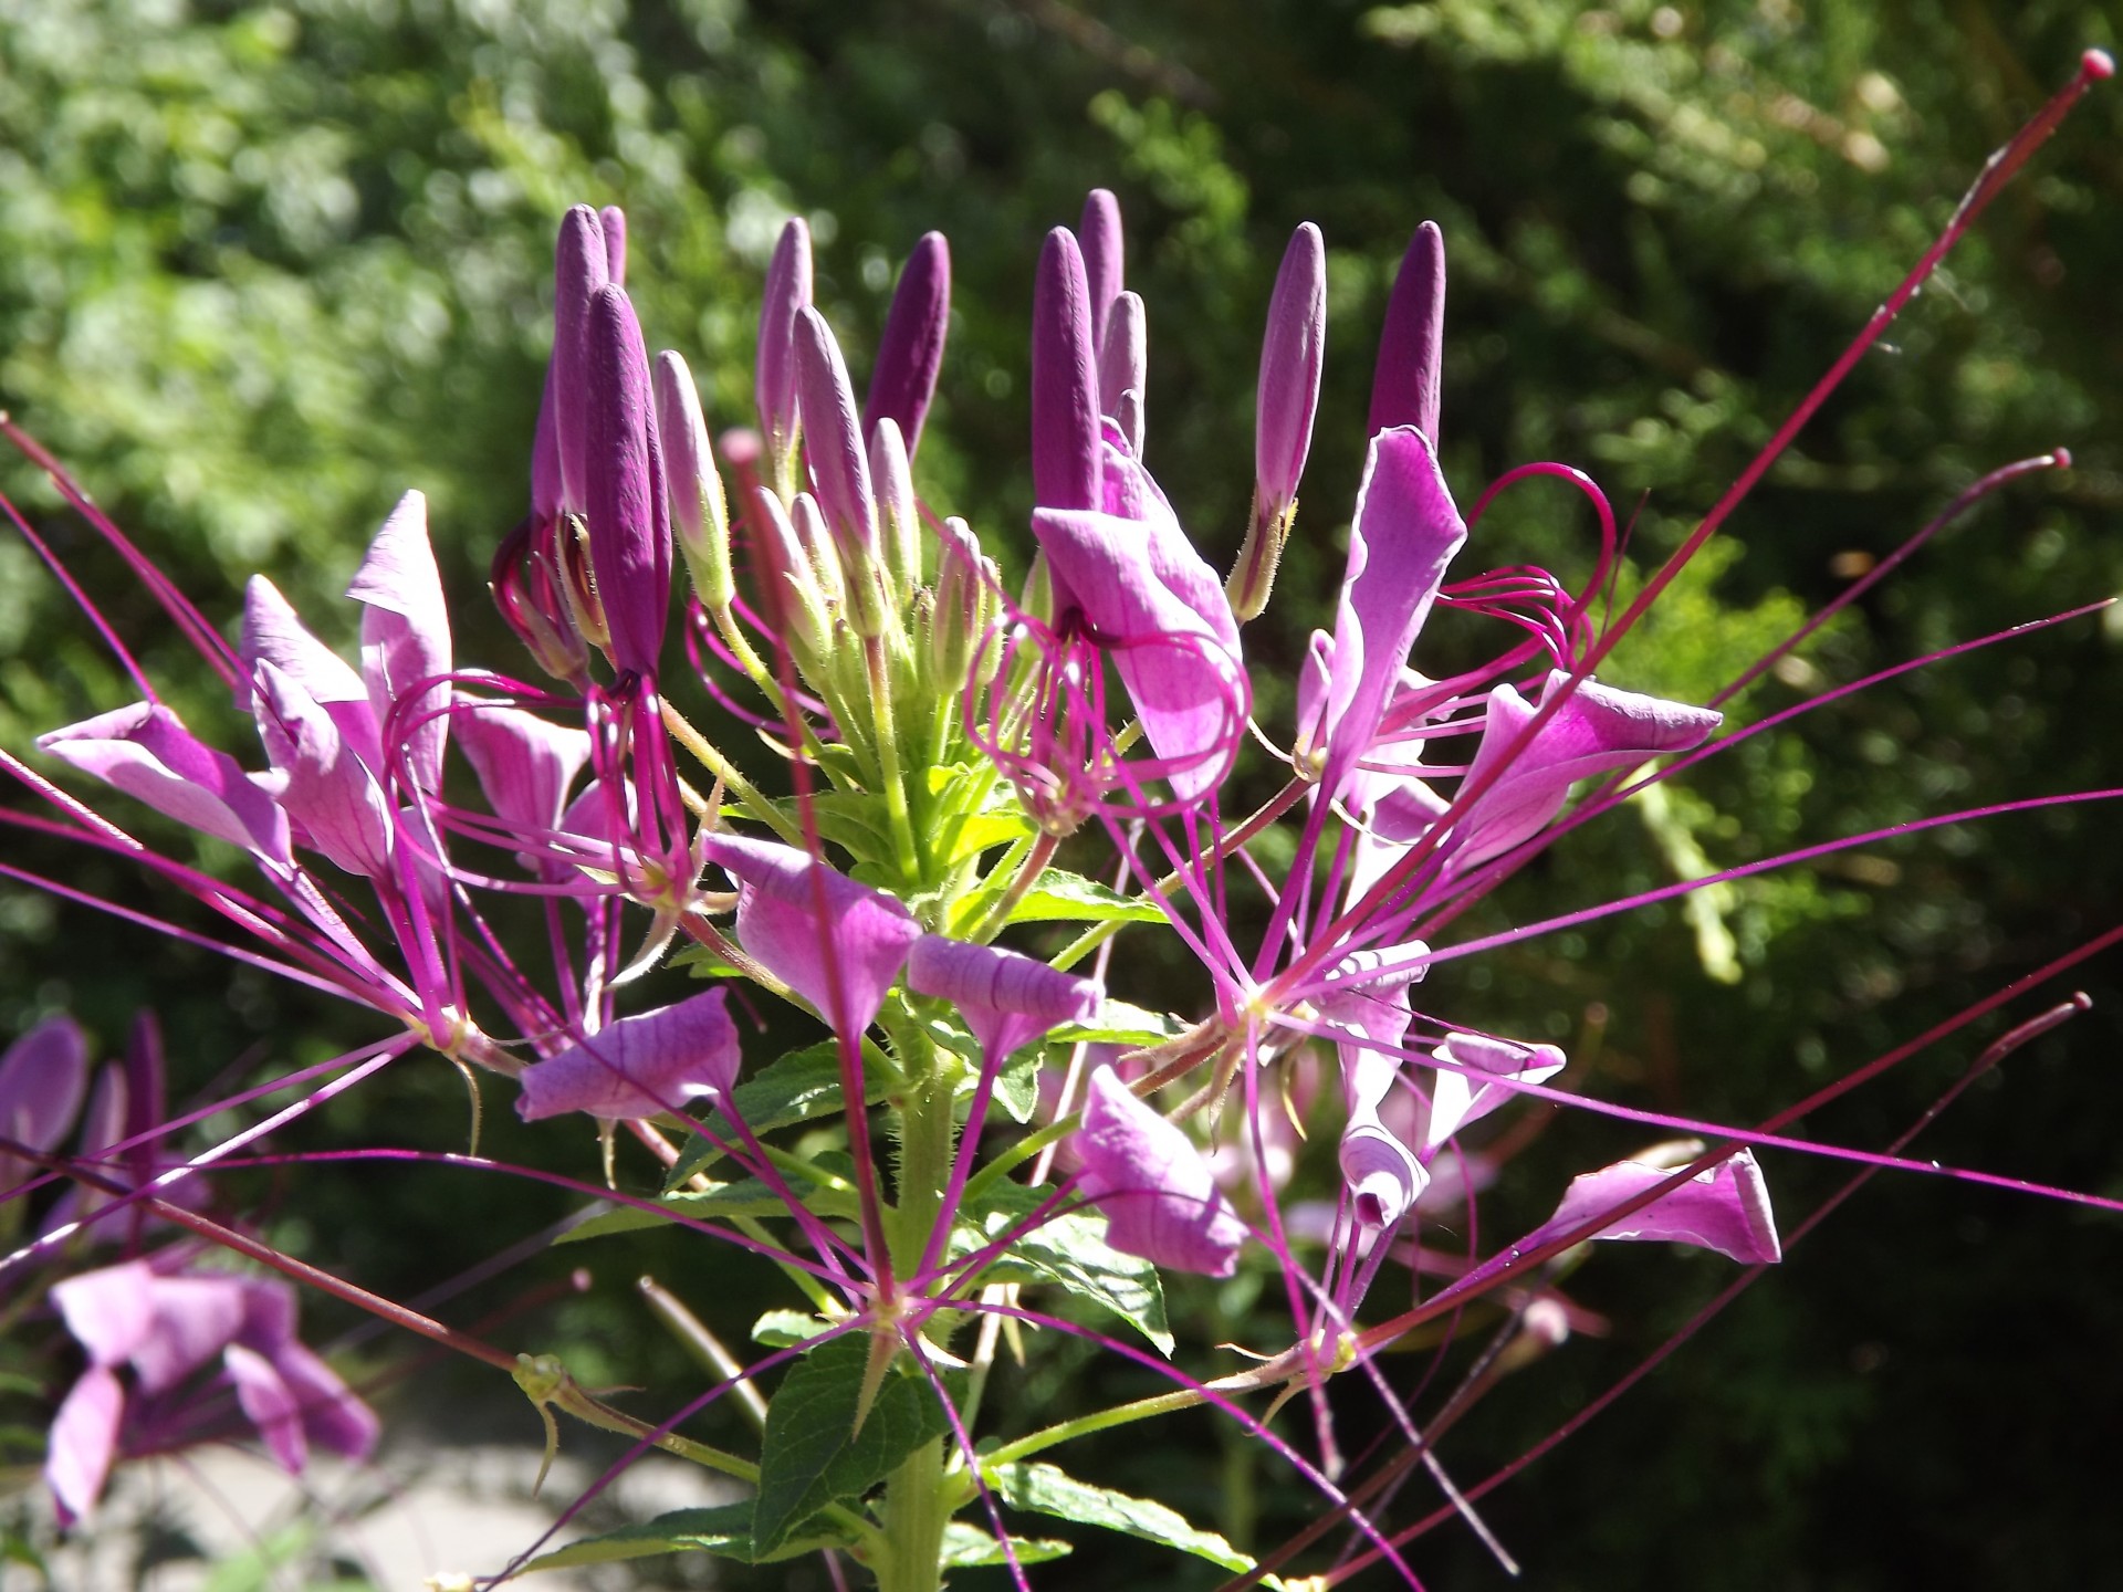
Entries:
{"label": "leftmost pink petal of the main flower head, pointing left", "polygon": [[38,747],[202,834],[287,866],[287,815],[236,758],[161,703],[134,703],[36,739]]}

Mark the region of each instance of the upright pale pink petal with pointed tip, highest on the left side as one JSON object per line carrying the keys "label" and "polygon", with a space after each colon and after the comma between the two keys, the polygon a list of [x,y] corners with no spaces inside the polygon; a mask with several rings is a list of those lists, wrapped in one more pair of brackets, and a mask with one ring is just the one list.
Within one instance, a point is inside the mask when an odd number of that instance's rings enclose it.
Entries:
{"label": "upright pale pink petal with pointed tip, highest on the left side", "polygon": [[450,686],[442,679],[450,673],[450,607],[427,539],[427,497],[405,492],[399,499],[346,594],[365,605],[361,673],[376,722],[397,709],[414,785],[442,790],[442,749],[450,741]]}

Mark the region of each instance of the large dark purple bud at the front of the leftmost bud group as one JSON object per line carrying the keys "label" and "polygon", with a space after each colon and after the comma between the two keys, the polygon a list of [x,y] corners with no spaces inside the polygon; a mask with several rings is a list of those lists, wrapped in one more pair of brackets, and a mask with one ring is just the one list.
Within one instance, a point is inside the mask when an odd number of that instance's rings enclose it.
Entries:
{"label": "large dark purple bud at the front of the leftmost bud group", "polygon": [[590,569],[611,667],[654,679],[671,611],[671,516],[658,480],[648,350],[624,289],[597,291],[586,352]]}

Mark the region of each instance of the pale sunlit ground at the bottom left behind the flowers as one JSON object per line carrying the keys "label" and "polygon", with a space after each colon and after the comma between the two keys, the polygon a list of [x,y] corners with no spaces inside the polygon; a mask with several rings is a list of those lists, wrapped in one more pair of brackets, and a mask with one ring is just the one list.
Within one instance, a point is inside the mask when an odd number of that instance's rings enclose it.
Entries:
{"label": "pale sunlit ground at the bottom left behind the flowers", "polygon": [[[372,1467],[348,1467],[318,1458],[297,1482],[255,1450],[200,1448],[178,1460],[134,1463],[113,1477],[98,1509],[96,1530],[79,1535],[51,1558],[53,1592],[130,1592],[140,1528],[159,1518],[180,1528],[206,1560],[185,1558],[159,1564],[140,1584],[142,1592],[437,1592],[450,1579],[499,1573],[531,1547],[552,1520],[590,1484],[599,1469],[560,1456],[537,1501],[539,1446],[416,1446],[397,1443]],[[635,1463],[607,1488],[594,1513],[571,1520],[546,1547],[609,1530],[624,1522],[650,1520],[667,1509],[726,1503],[732,1492],[694,1465],[660,1454]],[[310,1579],[297,1571],[236,1575],[236,1560],[278,1539],[304,1511],[304,1494],[316,1518],[333,1520],[321,1539],[333,1558],[361,1567],[365,1581]],[[701,1571],[701,1556],[690,1569]],[[312,1560],[314,1562],[314,1560]],[[0,1588],[23,1592],[36,1584],[30,1571],[0,1567]],[[705,1584],[705,1581],[703,1581]],[[456,1581],[454,1586],[469,1586]],[[624,1564],[582,1571],[552,1571],[514,1586],[524,1592],[611,1592],[633,1586]]]}

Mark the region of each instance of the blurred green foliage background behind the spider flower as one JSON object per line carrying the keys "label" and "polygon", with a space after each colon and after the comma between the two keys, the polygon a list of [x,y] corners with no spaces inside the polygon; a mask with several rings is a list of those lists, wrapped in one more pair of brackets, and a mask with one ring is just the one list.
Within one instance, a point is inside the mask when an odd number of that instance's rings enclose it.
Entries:
{"label": "blurred green foliage background behind the spider flower", "polygon": [[[628,287],[650,338],[694,363],[715,425],[747,418],[752,310],[783,214],[811,219],[817,297],[858,376],[898,259],[921,231],[949,233],[957,314],[921,488],[1017,550],[1032,259],[1087,187],[1115,187],[1129,284],[1151,306],[1149,461],[1216,563],[1250,490],[1274,265],[1289,229],[1318,221],[1327,395],[1299,541],[1248,633],[1274,732],[1289,711],[1278,681],[1340,573],[1371,346],[1416,221],[1446,227],[1452,259],[1442,429],[1463,503],[1526,458],[1590,469],[1633,524],[1626,599],[2087,45],[2117,45],[2112,15],[2061,0],[1257,0],[1242,17],[1219,0],[0,0],[0,401],[210,613],[234,616],[242,577],[263,569],[344,637],[338,590],[361,543],[420,486],[465,599],[463,652],[507,664],[473,599],[524,507],[565,204],[626,206]],[[2108,89],[1609,677],[1707,696],[1953,490],[2055,446],[2074,471],[1949,529],[1734,711],[2123,590],[2119,151],[2123,96]],[[15,461],[0,480],[151,669],[180,669],[174,637],[49,490]],[[1518,488],[1469,567],[1535,560],[1582,579],[1588,526],[1575,497]],[[1004,563],[1021,569],[1021,552]],[[1446,618],[1418,660],[1444,671],[1471,641]],[[1957,804],[2115,783],[2119,645],[2112,616],[2081,620],[1749,741],[1643,821],[1616,815],[1558,847],[1465,928]],[[178,690],[191,711],[187,692],[200,688]],[[6,745],[121,696],[30,554],[0,541]],[[1535,940],[1427,993],[1560,1040],[1586,1091],[1762,1117],[2106,928],[2123,900],[2110,834],[2087,809],[1883,843],[1692,915]],[[74,866],[8,847],[21,866]],[[115,866],[85,881],[127,889]],[[121,957],[91,949],[119,942]],[[2112,955],[2074,979],[2110,1000],[2123,983]],[[132,1006],[161,1006],[191,1089],[369,1038],[299,993],[231,985],[204,955],[0,896],[0,1027],[62,1004],[110,1042]],[[1883,1142],[1993,1032],[1805,1129]],[[2115,1038],[2098,1010],[2032,1046],[1926,1153],[2123,1193]],[[535,1153],[514,1123],[495,1127],[497,1153]],[[329,1131],[459,1148],[461,1091],[410,1059],[335,1108]],[[1512,1167],[1501,1221],[1546,1214],[1569,1170],[1630,1146],[1596,1119],[1558,1121]],[[1792,1157],[1771,1157],[1771,1176],[1790,1214],[1834,1180]],[[565,1210],[463,1174],[348,1172],[344,1199],[367,1212],[352,1231],[282,1238],[399,1295]],[[2100,1435],[2123,1416],[2106,1352],[2123,1327],[2115,1244],[2112,1221],[1887,1180],[1488,1513],[1554,1588],[2087,1586],[2123,1552],[2100,1484]],[[692,1265],[681,1250],[648,1261],[667,1280]],[[546,1310],[537,1331],[599,1356],[586,1380],[652,1365],[658,1395],[686,1386],[626,1280]],[[1613,1339],[1507,1382],[1454,1437],[1461,1479],[1550,1431],[1722,1280],[1709,1263],[1603,1254],[1577,1286],[1613,1316]],[[1253,1305],[1223,1310],[1223,1335],[1240,1335]],[[1112,1392],[1134,1373],[1045,1375],[1040,1397],[1072,1382]],[[1376,1420],[1361,1386],[1337,1403],[1354,1433]],[[1191,1431],[1216,1441],[1206,1422]],[[1085,1469],[1144,1482],[1166,1469],[1155,1450],[1127,1435]],[[1255,1541],[1308,1509],[1238,1443],[1214,1490],[1170,1501],[1223,1511]],[[1465,1533],[1420,1552],[1444,1584],[1499,1575]]]}

